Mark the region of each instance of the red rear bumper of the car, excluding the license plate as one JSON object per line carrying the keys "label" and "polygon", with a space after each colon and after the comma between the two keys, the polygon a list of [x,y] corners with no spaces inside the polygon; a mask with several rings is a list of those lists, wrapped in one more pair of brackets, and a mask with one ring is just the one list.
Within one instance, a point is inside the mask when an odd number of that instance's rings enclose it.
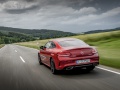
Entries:
{"label": "red rear bumper of the car, excluding the license plate", "polygon": [[[81,63],[77,64],[77,60],[85,60],[85,59],[90,59],[90,62],[87,63]],[[76,58],[69,58],[69,57],[57,57],[55,58],[56,62],[56,69],[57,70],[63,70],[67,67],[87,67],[87,66],[97,66],[99,65],[99,56],[94,55],[94,56],[86,56],[86,57],[76,57]]]}

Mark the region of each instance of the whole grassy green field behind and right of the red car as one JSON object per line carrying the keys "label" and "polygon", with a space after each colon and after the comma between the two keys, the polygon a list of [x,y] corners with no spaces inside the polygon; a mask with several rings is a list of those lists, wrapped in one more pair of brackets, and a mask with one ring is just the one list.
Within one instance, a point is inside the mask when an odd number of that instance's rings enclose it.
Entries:
{"label": "whole grassy green field behind and right of the red car", "polygon": [[[100,55],[100,64],[120,69],[120,30],[96,34],[72,36],[96,46]],[[47,40],[17,43],[18,45],[39,49]]]}

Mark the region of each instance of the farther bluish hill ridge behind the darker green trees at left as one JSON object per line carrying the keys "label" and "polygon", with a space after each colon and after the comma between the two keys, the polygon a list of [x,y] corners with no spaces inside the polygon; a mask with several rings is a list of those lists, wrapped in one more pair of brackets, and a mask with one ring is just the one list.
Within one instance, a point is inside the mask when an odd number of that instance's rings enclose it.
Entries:
{"label": "farther bluish hill ridge behind the darker green trees at left", "polygon": [[73,36],[76,35],[70,32],[63,32],[57,30],[47,30],[47,29],[19,29],[19,28],[11,28],[11,27],[0,27],[0,31],[5,32],[18,32],[30,35],[32,37],[37,37],[40,39],[46,38],[55,38],[55,37],[65,37],[65,36]]}

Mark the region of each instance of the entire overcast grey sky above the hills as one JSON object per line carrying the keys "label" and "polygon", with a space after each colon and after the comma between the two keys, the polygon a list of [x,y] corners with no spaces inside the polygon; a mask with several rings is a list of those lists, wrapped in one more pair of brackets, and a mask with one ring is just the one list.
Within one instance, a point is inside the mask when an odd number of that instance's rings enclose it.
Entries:
{"label": "entire overcast grey sky above the hills", "polygon": [[0,0],[0,26],[65,32],[120,27],[120,0]]}

